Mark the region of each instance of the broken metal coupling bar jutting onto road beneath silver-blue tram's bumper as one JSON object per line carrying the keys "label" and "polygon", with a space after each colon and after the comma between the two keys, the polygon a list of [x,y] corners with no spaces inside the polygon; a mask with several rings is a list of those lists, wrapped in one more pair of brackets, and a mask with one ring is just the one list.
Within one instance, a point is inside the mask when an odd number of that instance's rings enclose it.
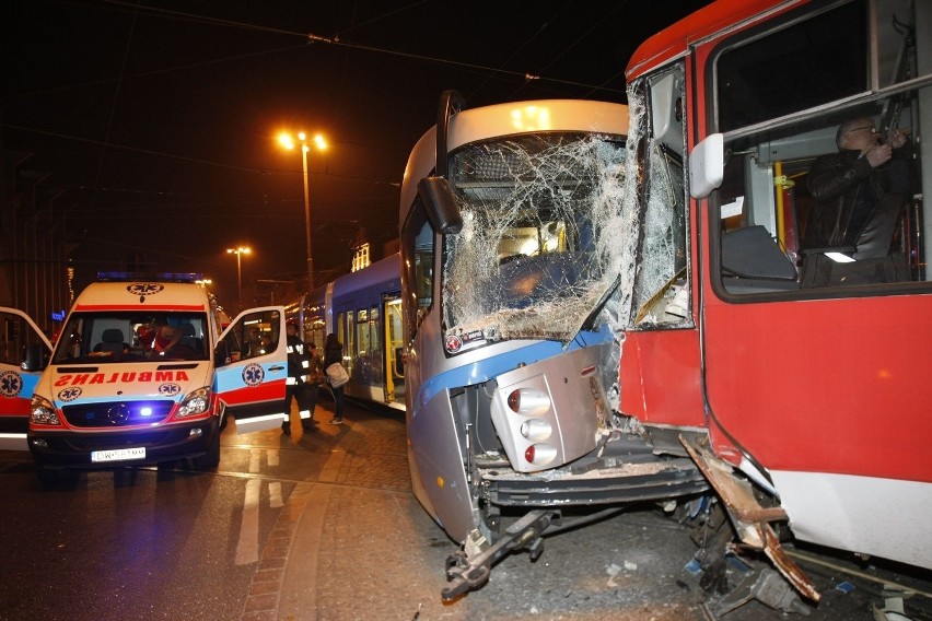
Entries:
{"label": "broken metal coupling bar jutting onto road beneath silver-blue tram's bumper", "polygon": [[560,524],[560,512],[535,509],[512,524],[498,541],[489,548],[467,556],[457,551],[446,558],[446,579],[450,585],[441,589],[441,596],[450,601],[463,594],[479,588],[489,581],[492,565],[506,554],[517,550],[527,550],[532,561],[544,552],[544,532],[550,525]]}

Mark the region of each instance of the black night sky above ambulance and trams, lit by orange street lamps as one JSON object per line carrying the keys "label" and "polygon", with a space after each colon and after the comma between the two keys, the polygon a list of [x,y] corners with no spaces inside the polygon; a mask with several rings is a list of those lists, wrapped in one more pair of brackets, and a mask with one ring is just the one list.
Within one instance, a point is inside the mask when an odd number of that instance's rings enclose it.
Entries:
{"label": "black night sky above ambulance and trams, lit by orange street lamps", "polygon": [[244,289],[306,272],[301,153],[279,130],[329,143],[308,156],[321,282],[358,239],[397,237],[408,152],[444,90],[467,107],[624,103],[637,46],[707,3],[5,0],[0,143],[58,194],[79,288],[143,261],[232,302],[229,247],[253,249]]}

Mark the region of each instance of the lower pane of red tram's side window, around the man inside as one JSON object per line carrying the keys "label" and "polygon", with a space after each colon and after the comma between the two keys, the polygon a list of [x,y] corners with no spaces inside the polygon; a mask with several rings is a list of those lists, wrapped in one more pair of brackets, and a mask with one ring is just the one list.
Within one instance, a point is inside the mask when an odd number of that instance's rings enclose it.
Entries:
{"label": "lower pane of red tram's side window, around the man inside", "polygon": [[[876,173],[878,187],[886,188],[876,204],[890,206],[882,243],[872,242],[878,237],[871,236],[866,223],[838,218],[836,211],[855,214],[853,201],[840,196],[817,200],[811,192],[819,183],[813,171],[825,169],[824,162],[839,157],[840,125],[866,118],[879,127],[883,109],[883,102],[865,104],[746,137],[733,145],[741,154],[727,162],[718,192],[718,258],[725,292],[806,292],[924,280],[922,166],[911,157],[912,147],[898,150],[899,155]],[[864,183],[871,187],[870,179]],[[894,183],[904,191],[892,191]],[[871,251],[872,245],[877,251]]]}

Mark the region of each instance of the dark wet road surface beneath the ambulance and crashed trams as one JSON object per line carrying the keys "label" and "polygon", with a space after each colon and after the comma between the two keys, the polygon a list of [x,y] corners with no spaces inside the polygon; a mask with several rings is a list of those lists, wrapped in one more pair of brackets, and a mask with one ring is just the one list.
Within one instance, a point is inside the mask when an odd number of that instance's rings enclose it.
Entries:
{"label": "dark wet road surface beneath the ambulance and crashed trams", "polygon": [[[317,408],[324,423],[328,406]],[[708,620],[722,610],[684,569],[696,552],[689,528],[653,507],[549,537],[536,562],[512,554],[482,588],[444,602],[457,547],[411,494],[403,418],[350,406],[346,419],[303,434],[295,417],[291,436],[236,435],[233,424],[217,473],[93,472],[73,489],[39,488],[28,455],[0,452],[0,620]],[[871,620],[886,605],[875,577],[932,593],[928,574],[791,552],[807,555],[797,562],[823,593],[818,607],[804,617],[752,600],[722,619]],[[730,581],[744,570],[734,564]],[[932,619],[928,597],[905,606]]]}

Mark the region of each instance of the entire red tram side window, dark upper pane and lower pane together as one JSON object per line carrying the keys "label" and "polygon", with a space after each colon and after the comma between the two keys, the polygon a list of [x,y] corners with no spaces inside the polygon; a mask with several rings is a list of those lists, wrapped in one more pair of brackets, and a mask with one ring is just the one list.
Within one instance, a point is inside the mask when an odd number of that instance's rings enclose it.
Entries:
{"label": "entire red tram side window, dark upper pane and lower pane together", "polygon": [[[866,0],[854,0],[771,32],[752,31],[713,58],[715,116],[725,142],[724,179],[710,201],[713,285],[721,295],[832,295],[835,288],[859,285],[869,294],[928,280],[923,196],[932,184],[932,154],[923,160],[917,128],[932,118],[932,75],[920,73],[918,59],[932,55],[932,43],[914,36],[913,9],[890,0],[873,14]],[[865,185],[817,200],[812,188],[825,185],[814,180],[814,165],[822,171],[828,159],[850,164],[862,156],[844,149],[851,142],[842,126],[852,119],[865,119],[852,129],[879,143],[902,130],[908,148],[895,150]],[[908,181],[890,180],[904,174]],[[877,206],[896,203],[884,207],[893,215],[879,253],[864,250],[872,243],[865,239],[876,237],[858,223],[857,201],[865,196],[858,187],[886,197]],[[826,218],[844,232],[830,236],[836,242],[816,235]],[[873,214],[865,221],[877,222]]]}

